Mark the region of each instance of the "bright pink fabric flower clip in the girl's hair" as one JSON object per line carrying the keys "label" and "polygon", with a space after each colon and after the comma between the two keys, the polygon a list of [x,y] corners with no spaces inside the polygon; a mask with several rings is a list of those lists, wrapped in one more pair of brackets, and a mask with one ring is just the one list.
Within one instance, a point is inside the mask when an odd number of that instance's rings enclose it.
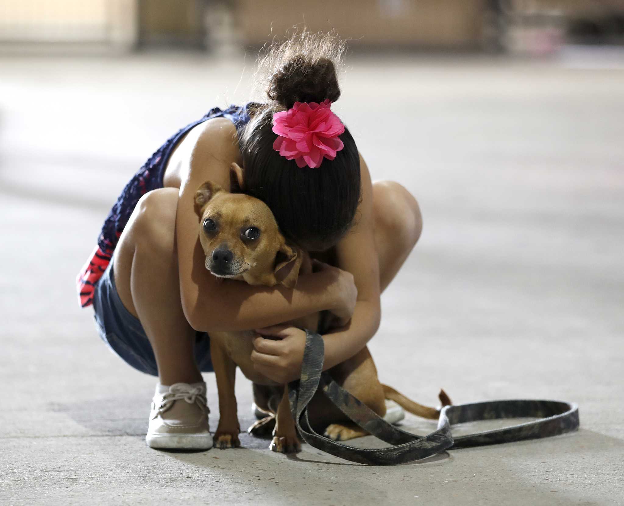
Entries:
{"label": "bright pink fabric flower clip in the girl's hair", "polygon": [[344,148],[338,136],[344,125],[333,112],[331,101],[295,102],[291,109],[273,115],[273,131],[278,135],[273,149],[299,167],[316,168],[323,158],[333,160]]}

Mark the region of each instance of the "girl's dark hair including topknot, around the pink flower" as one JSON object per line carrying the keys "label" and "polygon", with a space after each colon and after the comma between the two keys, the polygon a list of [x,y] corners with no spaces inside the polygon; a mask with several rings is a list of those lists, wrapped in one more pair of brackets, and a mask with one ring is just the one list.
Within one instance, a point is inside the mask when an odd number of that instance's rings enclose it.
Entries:
{"label": "girl's dark hair including topknot, around the pink flower", "polygon": [[359,153],[345,127],[344,148],[318,168],[299,168],[273,149],[273,114],[295,102],[336,102],[344,42],[303,32],[270,47],[258,76],[269,103],[256,104],[241,134],[243,191],[264,201],[288,241],[310,251],[333,246],[353,225],[360,200]]}

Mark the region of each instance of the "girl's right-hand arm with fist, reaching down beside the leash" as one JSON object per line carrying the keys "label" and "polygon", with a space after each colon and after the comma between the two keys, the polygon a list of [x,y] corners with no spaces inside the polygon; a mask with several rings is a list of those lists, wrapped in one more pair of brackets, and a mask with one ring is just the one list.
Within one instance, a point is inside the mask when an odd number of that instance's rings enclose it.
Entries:
{"label": "girl's right-hand arm with fist, reaching down beside the leash", "polygon": [[[323,369],[351,358],[373,337],[379,328],[379,258],[374,241],[373,185],[368,167],[360,156],[362,201],[356,225],[336,247],[338,265],[353,274],[358,299],[351,321],[323,336],[325,361]],[[258,337],[251,359],[261,374],[278,383],[288,383],[301,376],[301,361],[305,348],[305,332],[295,327],[279,325],[258,330],[280,341]]]}

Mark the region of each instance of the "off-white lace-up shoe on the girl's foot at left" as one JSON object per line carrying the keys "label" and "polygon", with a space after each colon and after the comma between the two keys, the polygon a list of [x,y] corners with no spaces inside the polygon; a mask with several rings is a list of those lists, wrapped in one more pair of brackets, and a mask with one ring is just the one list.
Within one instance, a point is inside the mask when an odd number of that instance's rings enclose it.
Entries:
{"label": "off-white lace-up shoe on the girl's foot at left", "polygon": [[[167,388],[167,387],[165,387]],[[207,450],[212,448],[208,431],[206,384],[175,383],[161,393],[157,384],[145,442],[150,448]]]}

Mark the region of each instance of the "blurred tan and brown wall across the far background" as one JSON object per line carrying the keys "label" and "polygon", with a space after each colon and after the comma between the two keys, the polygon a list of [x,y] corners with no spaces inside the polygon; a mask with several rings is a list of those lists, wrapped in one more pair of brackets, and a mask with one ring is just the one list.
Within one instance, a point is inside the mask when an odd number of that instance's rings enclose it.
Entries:
{"label": "blurred tan and brown wall across the far background", "polygon": [[2,51],[258,47],[293,26],[335,28],[352,49],[550,54],[624,43],[624,0],[3,0]]}

